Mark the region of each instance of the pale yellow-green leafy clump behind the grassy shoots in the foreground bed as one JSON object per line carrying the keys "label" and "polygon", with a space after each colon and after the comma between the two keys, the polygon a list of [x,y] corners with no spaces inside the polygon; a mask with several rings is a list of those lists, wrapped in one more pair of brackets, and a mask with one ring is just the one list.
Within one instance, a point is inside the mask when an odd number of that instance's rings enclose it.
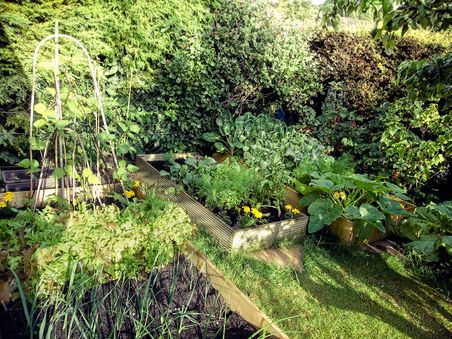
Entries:
{"label": "pale yellow-green leafy clump behind the grassy shoots in the foreground bed", "polygon": [[22,210],[13,219],[0,219],[0,231],[7,251],[0,271],[22,272],[49,292],[68,281],[74,263],[100,281],[138,276],[172,259],[192,227],[180,207],[150,194],[123,211],[114,204]]}

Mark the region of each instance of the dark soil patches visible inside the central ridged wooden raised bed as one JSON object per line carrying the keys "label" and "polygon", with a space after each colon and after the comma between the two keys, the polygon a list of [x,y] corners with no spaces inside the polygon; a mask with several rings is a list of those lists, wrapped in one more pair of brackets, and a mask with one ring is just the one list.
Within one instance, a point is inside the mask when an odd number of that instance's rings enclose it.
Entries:
{"label": "dark soil patches visible inside the central ridged wooden raised bed", "polygon": [[[179,164],[184,163],[184,159],[176,159],[175,161]],[[154,166],[158,171],[163,170],[166,172],[170,172],[170,165],[166,161],[152,161],[151,165]],[[185,185],[184,185],[184,189],[187,190],[187,187]],[[199,199],[196,196],[193,196],[193,197],[205,206],[204,201],[202,199]],[[240,215],[243,215],[243,214],[240,213],[237,209],[221,210],[219,208],[209,208],[209,207],[207,207],[207,208],[212,213],[214,213],[218,217],[220,217],[226,224],[228,224],[232,228],[234,228],[234,229],[244,228],[244,226],[240,225],[240,222],[239,222],[239,217],[240,217]],[[275,208],[261,208],[259,210],[264,214],[264,217],[260,222],[258,221],[257,225],[287,219],[284,216],[284,211],[282,211],[283,213],[281,213],[281,215],[278,215],[278,211]]]}

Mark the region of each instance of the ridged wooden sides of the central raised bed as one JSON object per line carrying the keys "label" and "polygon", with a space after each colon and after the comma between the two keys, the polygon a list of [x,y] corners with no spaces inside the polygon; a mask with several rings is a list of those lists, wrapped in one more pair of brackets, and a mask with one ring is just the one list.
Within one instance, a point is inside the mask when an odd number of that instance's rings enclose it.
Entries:
{"label": "ridged wooden sides of the central raised bed", "polygon": [[[184,159],[189,156],[196,156],[196,154],[185,153],[173,154],[172,156],[175,159]],[[308,217],[304,214],[296,219],[271,222],[244,229],[233,229],[186,192],[178,191],[170,180],[163,178],[160,172],[152,166],[152,162],[164,160],[164,154],[138,156],[136,165],[140,170],[134,174],[135,178],[145,184],[155,186],[157,194],[161,197],[178,203],[185,209],[194,223],[207,230],[225,248],[266,248],[281,240],[299,240],[306,234]]]}

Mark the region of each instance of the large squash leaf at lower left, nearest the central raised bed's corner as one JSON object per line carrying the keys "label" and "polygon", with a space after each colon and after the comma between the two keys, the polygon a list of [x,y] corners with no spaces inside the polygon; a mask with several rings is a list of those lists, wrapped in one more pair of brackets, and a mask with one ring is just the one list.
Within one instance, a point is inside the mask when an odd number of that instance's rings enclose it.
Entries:
{"label": "large squash leaf at lower left, nearest the central raised bed's corner", "polygon": [[333,203],[330,199],[318,199],[309,207],[309,233],[317,232],[342,215],[342,207]]}

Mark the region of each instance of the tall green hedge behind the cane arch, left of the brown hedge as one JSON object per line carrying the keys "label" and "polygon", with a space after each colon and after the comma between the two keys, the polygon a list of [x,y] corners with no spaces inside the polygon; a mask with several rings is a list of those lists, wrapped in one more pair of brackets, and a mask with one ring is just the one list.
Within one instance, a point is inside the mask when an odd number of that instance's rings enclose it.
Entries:
{"label": "tall green hedge behind the cane arch, left of the brown hedge", "polygon": [[[264,7],[248,1],[55,0],[0,6],[5,79],[0,109],[27,109],[33,50],[53,33],[56,19],[59,31],[80,39],[101,66],[107,112],[115,122],[125,119],[131,84],[128,119],[141,127],[141,136],[132,140],[135,151],[202,146],[202,133],[216,128],[218,115],[272,112],[279,106],[295,111],[319,89],[306,39],[290,27],[276,27]],[[50,57],[52,49],[44,52]],[[88,95],[80,54],[64,43],[61,54],[67,72],[83,80],[77,85],[84,82],[81,92]],[[41,88],[51,79],[50,72],[43,74]],[[0,119],[6,130],[26,132],[12,128],[16,116]],[[0,133],[5,148],[26,147],[12,145],[6,131]]]}

